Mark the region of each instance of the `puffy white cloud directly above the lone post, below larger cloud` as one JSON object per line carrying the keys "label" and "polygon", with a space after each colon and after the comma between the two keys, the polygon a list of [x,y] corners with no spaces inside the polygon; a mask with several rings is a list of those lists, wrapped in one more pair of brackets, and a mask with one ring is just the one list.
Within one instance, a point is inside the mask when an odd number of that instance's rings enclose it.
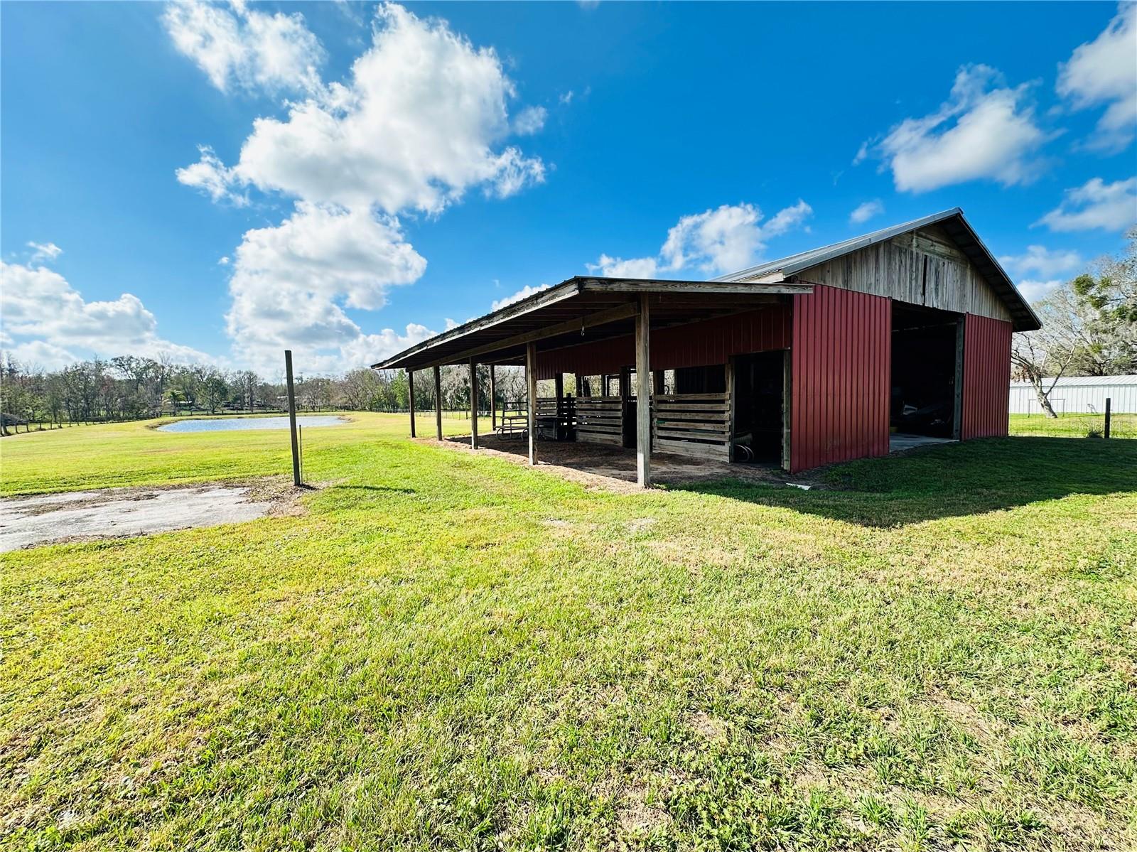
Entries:
{"label": "puffy white cloud directly above the lone post, below larger cloud", "polygon": [[413,283],[425,268],[398,220],[298,202],[280,225],[246,232],[238,247],[229,334],[254,364],[275,363],[291,347],[309,364],[329,364],[321,370],[338,369],[337,354],[343,366],[354,365],[360,338],[374,336],[364,334],[346,309],[383,307],[389,288]]}

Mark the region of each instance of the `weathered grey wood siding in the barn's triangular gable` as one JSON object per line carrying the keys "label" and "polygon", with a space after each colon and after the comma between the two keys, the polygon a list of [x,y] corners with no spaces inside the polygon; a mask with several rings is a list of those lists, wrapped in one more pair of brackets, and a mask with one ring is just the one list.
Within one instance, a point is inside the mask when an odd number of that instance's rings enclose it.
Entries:
{"label": "weathered grey wood siding in the barn's triangular gable", "polygon": [[799,281],[911,305],[1011,320],[1003,300],[943,231],[929,228],[803,270]]}

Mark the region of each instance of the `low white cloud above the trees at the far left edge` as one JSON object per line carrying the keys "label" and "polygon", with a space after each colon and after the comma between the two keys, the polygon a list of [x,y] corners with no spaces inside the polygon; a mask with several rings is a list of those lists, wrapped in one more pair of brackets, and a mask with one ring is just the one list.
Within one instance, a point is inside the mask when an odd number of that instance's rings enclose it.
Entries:
{"label": "low white cloud above the trees at the far left edge", "polygon": [[[51,245],[51,243],[48,243]],[[207,356],[158,337],[158,321],[132,293],[86,301],[58,272],[0,262],[0,334],[17,361],[58,367],[91,355]]]}

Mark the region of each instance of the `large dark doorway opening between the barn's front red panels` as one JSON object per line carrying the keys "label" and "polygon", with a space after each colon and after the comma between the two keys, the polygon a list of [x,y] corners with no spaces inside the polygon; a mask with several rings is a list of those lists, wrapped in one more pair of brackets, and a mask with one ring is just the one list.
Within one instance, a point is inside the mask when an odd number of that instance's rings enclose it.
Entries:
{"label": "large dark doorway opening between the barn's front red panels", "polygon": [[893,303],[891,404],[895,432],[958,438],[962,317]]}

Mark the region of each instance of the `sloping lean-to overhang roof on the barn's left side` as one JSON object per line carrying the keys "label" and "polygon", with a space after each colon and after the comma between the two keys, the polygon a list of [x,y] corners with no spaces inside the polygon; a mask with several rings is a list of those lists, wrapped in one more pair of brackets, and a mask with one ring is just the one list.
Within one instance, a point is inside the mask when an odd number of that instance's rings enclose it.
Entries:
{"label": "sloping lean-to overhang roof on the barn's left side", "polygon": [[783,282],[576,276],[437,334],[372,369],[423,370],[471,358],[522,364],[530,342],[545,350],[630,334],[644,293],[649,297],[652,328],[666,328],[753,311],[790,293],[812,291],[811,284]]}

